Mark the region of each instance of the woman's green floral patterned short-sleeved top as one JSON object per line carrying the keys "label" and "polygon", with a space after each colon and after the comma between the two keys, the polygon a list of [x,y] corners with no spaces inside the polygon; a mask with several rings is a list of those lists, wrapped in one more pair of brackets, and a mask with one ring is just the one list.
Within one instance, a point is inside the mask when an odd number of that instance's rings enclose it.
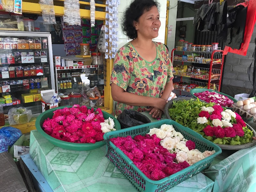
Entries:
{"label": "woman's green floral patterned short-sleeved top", "polygon": [[[110,84],[122,87],[124,91],[147,97],[161,97],[165,84],[173,79],[172,63],[164,44],[155,42],[156,59],[148,62],[140,57],[131,43],[125,44],[116,53]],[[124,109],[146,111],[147,106],[131,106],[116,103],[114,114]]]}

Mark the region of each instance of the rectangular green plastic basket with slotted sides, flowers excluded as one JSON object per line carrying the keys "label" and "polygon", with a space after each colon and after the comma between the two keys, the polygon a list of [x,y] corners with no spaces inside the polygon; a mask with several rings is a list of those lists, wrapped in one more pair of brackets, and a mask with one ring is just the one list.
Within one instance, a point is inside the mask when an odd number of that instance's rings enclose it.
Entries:
{"label": "rectangular green plastic basket with slotted sides, flowers excluded", "polygon": [[216,153],[206,157],[205,159],[183,169],[169,177],[154,181],[148,179],[138,167],[136,167],[132,160],[129,159],[119,148],[117,148],[111,141],[107,144],[108,159],[124,174],[124,176],[132,183],[132,185],[140,192],[164,192],[182,181],[202,172],[207,169],[215,156],[221,153],[221,149],[216,144],[204,139],[200,134],[191,129],[178,124],[170,119],[164,119],[154,123],[138,125],[131,128],[122,129],[115,132],[108,132],[104,134],[103,138],[108,140],[116,137],[126,137],[131,135],[134,138],[136,135],[145,135],[152,128],[160,128],[162,124],[171,124],[175,131],[180,132],[186,139],[192,140],[196,143],[196,148],[201,152],[205,150],[215,150]]}

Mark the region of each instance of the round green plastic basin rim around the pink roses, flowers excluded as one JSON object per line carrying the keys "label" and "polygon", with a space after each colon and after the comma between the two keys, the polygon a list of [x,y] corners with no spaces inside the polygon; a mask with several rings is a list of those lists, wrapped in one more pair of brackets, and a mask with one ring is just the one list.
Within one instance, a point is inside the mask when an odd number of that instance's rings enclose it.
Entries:
{"label": "round green plastic basin rim around the pink roses, flowers excluded", "polygon": [[[67,142],[67,141],[62,141],[62,140],[58,140],[53,138],[52,136],[48,135],[46,132],[44,132],[44,130],[42,129],[42,125],[44,123],[44,120],[49,118],[52,118],[53,116],[53,111],[57,110],[57,109],[62,109],[62,108],[71,108],[72,106],[63,106],[63,107],[57,107],[57,108],[52,108],[49,109],[43,113],[41,113],[37,118],[36,118],[36,129],[39,133],[41,133],[49,142],[51,142],[53,145],[60,147],[60,148],[64,148],[64,149],[68,149],[68,150],[75,150],[75,151],[88,151],[88,150],[92,150],[92,149],[96,149],[96,148],[100,148],[103,145],[106,144],[106,141],[98,141],[96,143],[71,143],[71,142]],[[91,107],[87,107],[89,109],[91,109]],[[108,117],[114,119],[115,122],[115,129],[119,130],[121,129],[121,125],[119,123],[119,121],[117,121],[117,119],[112,116],[111,114],[102,111],[103,116],[105,119],[108,119]]]}

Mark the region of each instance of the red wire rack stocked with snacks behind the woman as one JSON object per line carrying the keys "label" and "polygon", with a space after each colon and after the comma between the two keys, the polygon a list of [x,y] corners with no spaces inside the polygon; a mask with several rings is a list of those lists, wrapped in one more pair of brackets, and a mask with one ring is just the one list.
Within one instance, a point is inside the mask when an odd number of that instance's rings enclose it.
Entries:
{"label": "red wire rack stocked with snacks behind the woman", "polygon": [[[220,91],[224,61],[223,51],[218,48],[217,50],[206,52],[206,49],[201,47],[196,48],[193,52],[190,50],[184,51],[183,47],[176,47],[176,49],[172,50],[171,60],[176,71],[174,75],[181,77],[180,82],[184,82],[185,79],[183,77],[189,78],[188,80],[190,81],[197,81],[196,79],[198,79],[200,83],[206,84],[206,88]],[[182,55],[174,55],[174,52],[182,52]],[[202,84],[200,83],[197,85],[201,86]],[[191,85],[191,88],[194,87],[195,85]],[[183,89],[183,86],[178,87],[178,89],[190,90],[190,88]]]}

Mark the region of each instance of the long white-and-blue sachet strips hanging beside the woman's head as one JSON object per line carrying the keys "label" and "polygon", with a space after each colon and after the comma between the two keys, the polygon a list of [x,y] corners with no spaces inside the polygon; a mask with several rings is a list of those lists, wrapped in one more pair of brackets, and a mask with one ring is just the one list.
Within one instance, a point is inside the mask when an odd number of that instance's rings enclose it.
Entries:
{"label": "long white-and-blue sachet strips hanging beside the woman's head", "polygon": [[120,0],[107,0],[106,1],[106,26],[105,26],[105,59],[114,59],[117,52],[118,42],[118,23],[117,23],[117,7]]}

